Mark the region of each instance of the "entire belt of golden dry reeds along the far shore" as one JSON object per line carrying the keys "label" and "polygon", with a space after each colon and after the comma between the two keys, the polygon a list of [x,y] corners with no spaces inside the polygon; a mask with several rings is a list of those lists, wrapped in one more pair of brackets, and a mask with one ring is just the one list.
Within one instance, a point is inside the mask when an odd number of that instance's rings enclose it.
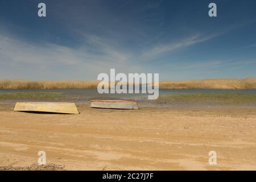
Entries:
{"label": "entire belt of golden dry reeds along the far shore", "polygon": [[[0,89],[71,89],[97,88],[99,81],[0,80]],[[162,81],[166,89],[256,89],[256,78]]]}

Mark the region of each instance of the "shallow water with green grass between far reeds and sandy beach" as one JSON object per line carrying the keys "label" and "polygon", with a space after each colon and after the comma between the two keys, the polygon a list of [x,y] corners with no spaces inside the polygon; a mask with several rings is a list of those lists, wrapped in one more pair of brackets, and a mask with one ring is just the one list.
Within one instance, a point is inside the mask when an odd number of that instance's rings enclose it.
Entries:
{"label": "shallow water with green grass between far reeds and sandy beach", "polygon": [[87,104],[90,100],[133,100],[142,106],[239,106],[255,107],[256,90],[159,90],[157,100],[148,100],[147,94],[99,94],[96,89],[61,90],[0,90],[0,102],[75,102]]}

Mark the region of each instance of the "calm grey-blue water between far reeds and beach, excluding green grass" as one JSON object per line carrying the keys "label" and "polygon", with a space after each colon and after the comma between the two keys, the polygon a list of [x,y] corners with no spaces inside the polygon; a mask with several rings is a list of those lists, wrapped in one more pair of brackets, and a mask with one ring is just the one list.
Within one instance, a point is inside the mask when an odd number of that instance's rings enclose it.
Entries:
{"label": "calm grey-blue water between far reeds and beach, excluding green grass", "polygon": [[[209,104],[168,104],[159,105],[152,100],[148,100],[147,94],[99,94],[97,89],[0,89],[0,93],[18,93],[18,92],[55,92],[63,93],[64,99],[61,101],[72,101],[76,104],[88,104],[90,100],[135,100],[138,101],[141,106],[218,106]],[[256,94],[256,90],[217,90],[217,89],[184,89],[184,90],[172,90],[172,89],[159,89],[159,96],[167,96],[171,94],[189,94],[189,93],[250,93]],[[0,100],[0,103],[13,104],[20,100]],[[24,100],[23,100],[24,101]],[[45,101],[45,100],[44,100]]]}

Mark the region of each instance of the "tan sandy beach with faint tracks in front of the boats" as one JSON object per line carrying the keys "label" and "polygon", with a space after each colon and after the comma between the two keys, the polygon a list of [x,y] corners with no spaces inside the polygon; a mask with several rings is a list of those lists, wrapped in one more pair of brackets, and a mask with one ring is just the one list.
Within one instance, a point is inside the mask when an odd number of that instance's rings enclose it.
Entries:
{"label": "tan sandy beach with faint tracks in front of the boats", "polygon": [[[256,109],[12,109],[0,105],[0,169],[33,166],[43,150],[47,164],[66,170],[256,170]],[[209,151],[217,152],[216,165]]]}

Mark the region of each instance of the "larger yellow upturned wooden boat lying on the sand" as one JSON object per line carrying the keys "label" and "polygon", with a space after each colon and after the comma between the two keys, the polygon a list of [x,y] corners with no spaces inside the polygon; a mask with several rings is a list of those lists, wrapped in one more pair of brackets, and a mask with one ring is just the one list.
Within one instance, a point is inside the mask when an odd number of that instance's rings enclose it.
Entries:
{"label": "larger yellow upturned wooden boat lying on the sand", "polygon": [[17,102],[14,111],[79,114],[75,103],[69,102]]}

